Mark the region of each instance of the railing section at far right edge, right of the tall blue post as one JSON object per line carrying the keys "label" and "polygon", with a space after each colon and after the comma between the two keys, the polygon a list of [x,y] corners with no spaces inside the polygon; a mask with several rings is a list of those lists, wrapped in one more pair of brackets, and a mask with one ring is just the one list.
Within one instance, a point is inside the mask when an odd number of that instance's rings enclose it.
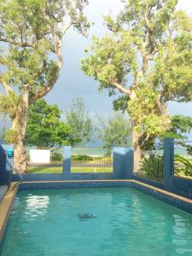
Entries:
{"label": "railing section at far right edge, right of the tall blue post", "polygon": [[192,178],[192,142],[175,141],[174,175]]}

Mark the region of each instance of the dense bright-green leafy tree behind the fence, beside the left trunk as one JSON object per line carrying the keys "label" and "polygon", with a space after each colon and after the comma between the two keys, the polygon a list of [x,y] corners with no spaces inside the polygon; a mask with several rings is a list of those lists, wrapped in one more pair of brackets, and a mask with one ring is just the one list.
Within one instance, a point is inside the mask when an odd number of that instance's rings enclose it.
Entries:
{"label": "dense bright-green leafy tree behind the fence, beside the left trunk", "polygon": [[72,127],[61,121],[61,110],[56,105],[49,105],[40,99],[30,106],[26,145],[63,146],[73,144],[75,140]]}

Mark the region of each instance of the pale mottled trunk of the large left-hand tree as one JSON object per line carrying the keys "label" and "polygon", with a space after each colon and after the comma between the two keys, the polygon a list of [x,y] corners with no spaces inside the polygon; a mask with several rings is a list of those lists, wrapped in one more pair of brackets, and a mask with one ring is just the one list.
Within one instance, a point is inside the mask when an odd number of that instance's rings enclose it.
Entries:
{"label": "pale mottled trunk of the large left-hand tree", "polygon": [[12,129],[15,131],[15,148],[14,148],[14,167],[21,173],[26,172],[26,153],[24,141],[26,137],[26,125],[28,118],[28,90],[23,89],[22,102],[17,108],[15,119],[13,119]]}

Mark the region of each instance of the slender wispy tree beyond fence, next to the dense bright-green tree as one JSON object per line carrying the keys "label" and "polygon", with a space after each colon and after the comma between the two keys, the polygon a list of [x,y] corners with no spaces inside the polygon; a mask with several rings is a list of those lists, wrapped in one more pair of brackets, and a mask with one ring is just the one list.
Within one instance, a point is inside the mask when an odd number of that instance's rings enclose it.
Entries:
{"label": "slender wispy tree beyond fence, next to the dense bright-green tree", "polygon": [[73,128],[73,134],[77,138],[76,144],[90,142],[94,128],[82,96],[73,100],[70,109],[66,111],[66,117],[67,123]]}

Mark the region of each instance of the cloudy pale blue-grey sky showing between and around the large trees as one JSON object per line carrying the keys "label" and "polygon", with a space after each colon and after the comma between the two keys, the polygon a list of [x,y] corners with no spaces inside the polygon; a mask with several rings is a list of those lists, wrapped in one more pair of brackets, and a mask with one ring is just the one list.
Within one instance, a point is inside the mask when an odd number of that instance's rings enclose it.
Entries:
{"label": "cloudy pale blue-grey sky showing between and around the large trees", "polygon": [[[84,49],[89,46],[92,36],[102,37],[107,31],[103,26],[102,15],[108,15],[109,12],[117,15],[121,9],[121,2],[120,0],[90,0],[89,2],[85,15],[95,25],[90,27],[88,38],[84,38],[73,29],[67,32],[63,40],[64,63],[61,75],[53,90],[46,96],[46,100],[51,104],[57,104],[64,111],[69,108],[74,98],[83,96],[85,106],[89,109],[92,118],[96,114],[108,117],[113,111],[112,102],[116,97],[109,97],[107,90],[99,93],[98,83],[81,71],[80,61],[85,56]],[[178,8],[192,14],[192,1],[179,0]],[[171,114],[192,116],[192,102],[187,104],[172,102],[169,104],[169,110]]]}

